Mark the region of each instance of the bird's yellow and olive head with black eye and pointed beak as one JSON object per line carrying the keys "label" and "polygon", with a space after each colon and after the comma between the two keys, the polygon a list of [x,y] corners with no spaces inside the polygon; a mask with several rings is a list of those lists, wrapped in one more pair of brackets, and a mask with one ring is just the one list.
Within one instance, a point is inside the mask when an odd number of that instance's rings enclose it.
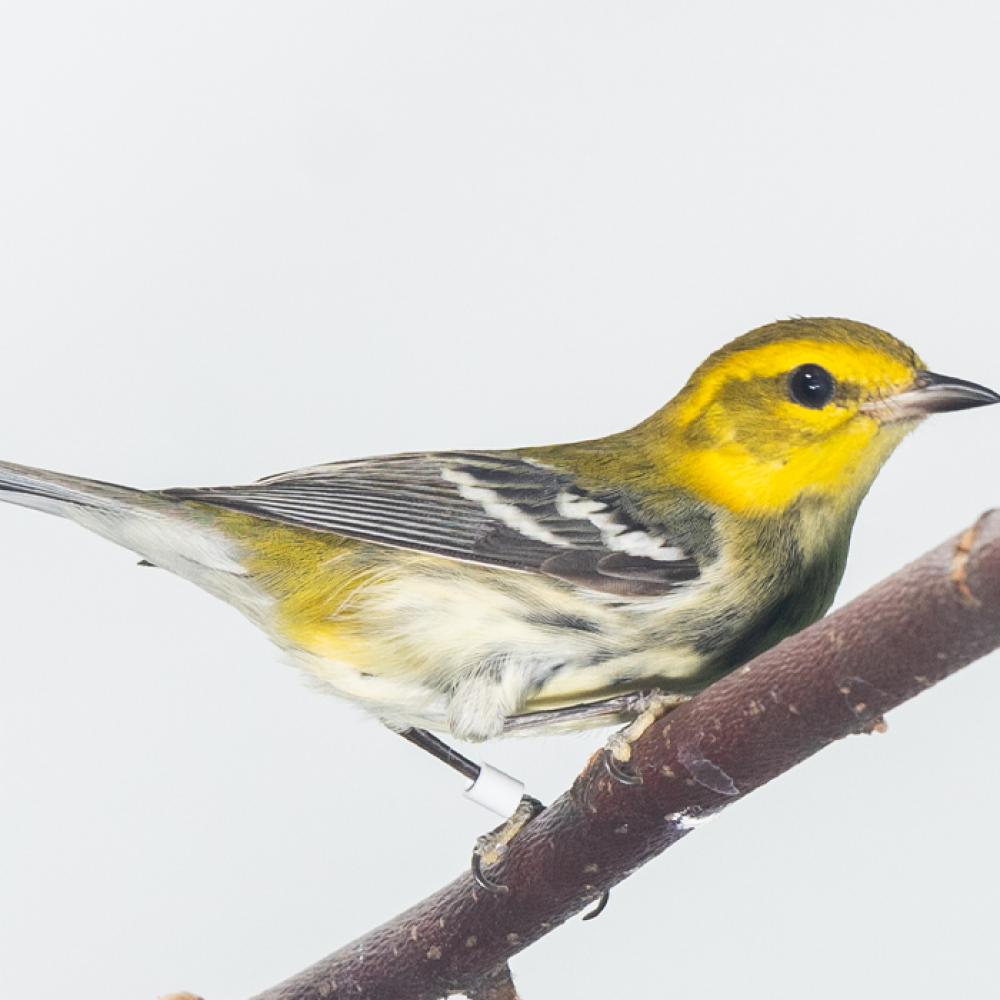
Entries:
{"label": "bird's yellow and olive head with black eye and pointed beak", "polygon": [[926,371],[882,330],[795,319],[716,351],[640,426],[675,481],[735,513],[809,497],[847,509],[929,413],[995,402],[989,389]]}

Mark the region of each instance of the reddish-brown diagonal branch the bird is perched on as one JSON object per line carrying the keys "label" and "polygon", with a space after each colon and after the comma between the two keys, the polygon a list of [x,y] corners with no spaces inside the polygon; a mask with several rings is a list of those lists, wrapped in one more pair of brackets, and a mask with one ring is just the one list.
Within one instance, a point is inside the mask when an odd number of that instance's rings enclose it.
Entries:
{"label": "reddish-brown diagonal branch the bird is perched on", "polygon": [[707,818],[1000,645],[1000,512],[712,685],[636,744],[639,787],[595,755],[491,875],[450,885],[256,1000],[515,1000],[506,961]]}

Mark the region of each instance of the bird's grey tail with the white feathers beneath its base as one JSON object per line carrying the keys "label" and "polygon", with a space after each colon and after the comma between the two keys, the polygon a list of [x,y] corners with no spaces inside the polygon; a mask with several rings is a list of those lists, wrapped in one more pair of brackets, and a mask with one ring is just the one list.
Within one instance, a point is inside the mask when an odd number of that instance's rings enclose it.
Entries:
{"label": "bird's grey tail with the white feathers beneath its base", "polygon": [[210,514],[162,493],[0,462],[0,501],[76,521],[224,599],[225,578],[245,572],[238,542]]}

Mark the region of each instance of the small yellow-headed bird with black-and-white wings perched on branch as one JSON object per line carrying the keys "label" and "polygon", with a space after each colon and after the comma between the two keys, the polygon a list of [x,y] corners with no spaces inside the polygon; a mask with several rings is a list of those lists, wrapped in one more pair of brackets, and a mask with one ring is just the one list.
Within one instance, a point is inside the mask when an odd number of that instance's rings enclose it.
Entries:
{"label": "small yellow-headed bird with black-and-white wings perched on branch", "polygon": [[445,758],[433,733],[634,717],[639,692],[687,697],[815,621],[903,438],[998,401],[880,329],[796,318],[716,350],[652,416],[594,440],[159,490],[0,463],[0,500],[197,584]]}

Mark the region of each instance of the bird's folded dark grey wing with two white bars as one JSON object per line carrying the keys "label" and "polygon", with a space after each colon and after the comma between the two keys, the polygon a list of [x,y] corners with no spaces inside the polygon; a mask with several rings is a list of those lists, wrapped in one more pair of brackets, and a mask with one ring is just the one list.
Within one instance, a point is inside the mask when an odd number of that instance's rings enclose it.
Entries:
{"label": "bird's folded dark grey wing with two white bars", "polygon": [[391,455],[163,492],[620,596],[665,594],[699,576],[694,554],[626,497],[584,490],[572,473],[513,452]]}

